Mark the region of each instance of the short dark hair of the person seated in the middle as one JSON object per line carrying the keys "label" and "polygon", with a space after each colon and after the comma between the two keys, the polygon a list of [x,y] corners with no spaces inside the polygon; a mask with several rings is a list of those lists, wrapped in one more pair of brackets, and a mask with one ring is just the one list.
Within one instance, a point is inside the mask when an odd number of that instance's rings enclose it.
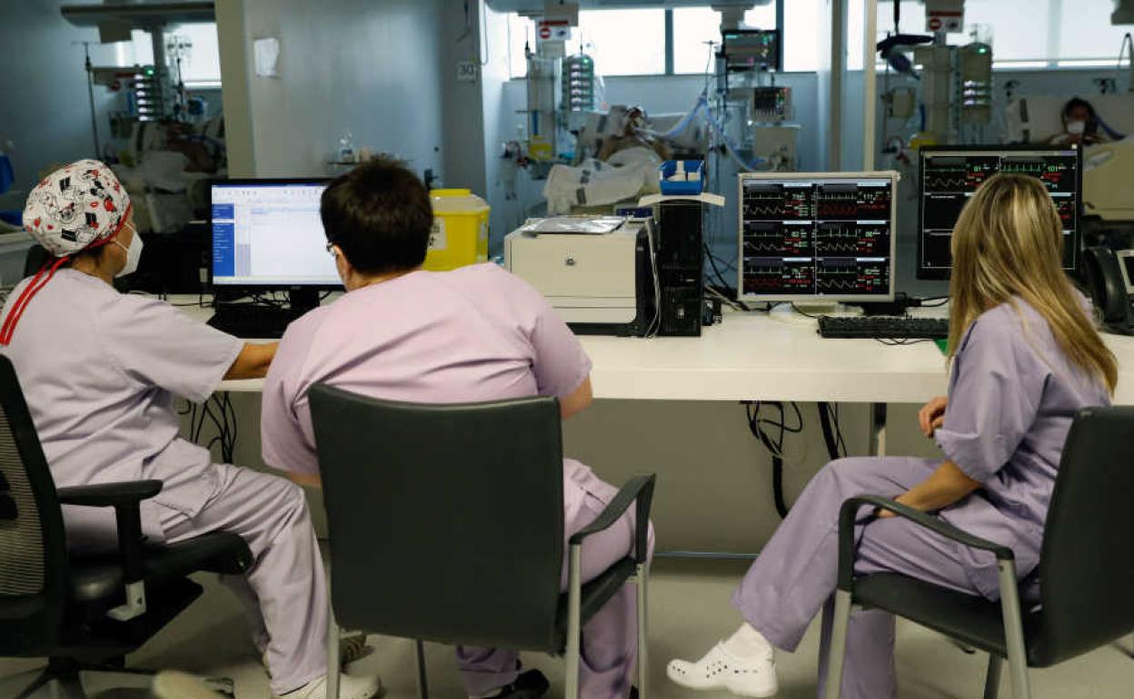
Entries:
{"label": "short dark hair of the person seated in the middle", "polygon": [[379,156],[333,179],[320,215],[327,240],[364,274],[405,272],[425,262],[433,207],[425,185],[399,160]]}

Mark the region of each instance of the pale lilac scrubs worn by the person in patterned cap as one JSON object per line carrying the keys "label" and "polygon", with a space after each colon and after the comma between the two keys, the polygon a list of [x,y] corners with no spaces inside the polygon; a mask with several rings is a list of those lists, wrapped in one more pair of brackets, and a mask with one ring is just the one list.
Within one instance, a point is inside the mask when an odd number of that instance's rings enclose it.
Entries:
{"label": "pale lilac scrubs worn by the person in patterned cap", "polygon": [[[174,408],[177,395],[205,401],[243,344],[169,304],[64,268],[32,298],[0,351],[16,367],[58,487],[159,479],[161,493],[142,503],[150,539],[214,529],[244,537],[255,563],[246,576],[222,579],[246,604],[272,689],[284,693],[325,673],[325,582],[303,492],[276,476],[213,464],[208,450],[178,435]],[[64,518],[71,548],[113,549],[112,508],[65,506]]]}

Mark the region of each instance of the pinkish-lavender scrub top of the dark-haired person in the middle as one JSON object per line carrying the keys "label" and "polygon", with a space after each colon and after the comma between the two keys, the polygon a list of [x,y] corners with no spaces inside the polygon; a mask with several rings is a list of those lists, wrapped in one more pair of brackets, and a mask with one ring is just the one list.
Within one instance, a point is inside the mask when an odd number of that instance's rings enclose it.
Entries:
{"label": "pinkish-lavender scrub top of the dark-haired person in the middle", "polygon": [[[412,272],[352,291],[288,326],[264,385],[264,462],[319,472],[307,404],[307,390],[319,382],[386,400],[464,403],[566,398],[590,373],[578,339],[509,272],[493,264]],[[609,495],[608,488],[586,466],[564,460],[568,518],[586,492]]]}

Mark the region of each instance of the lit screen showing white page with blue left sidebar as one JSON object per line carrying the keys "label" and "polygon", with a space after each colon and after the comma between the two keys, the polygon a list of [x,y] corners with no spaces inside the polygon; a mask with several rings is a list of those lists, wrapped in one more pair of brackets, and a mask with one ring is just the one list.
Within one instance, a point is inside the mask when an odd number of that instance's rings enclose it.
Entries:
{"label": "lit screen showing white page with blue left sidebar", "polygon": [[319,216],[325,187],[327,180],[213,182],[213,284],[342,285]]}

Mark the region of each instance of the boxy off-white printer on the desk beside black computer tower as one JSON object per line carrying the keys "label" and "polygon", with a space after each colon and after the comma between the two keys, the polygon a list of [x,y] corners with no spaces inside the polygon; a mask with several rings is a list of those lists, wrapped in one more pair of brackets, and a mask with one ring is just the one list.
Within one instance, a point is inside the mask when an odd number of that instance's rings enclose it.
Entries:
{"label": "boxy off-white printer on the desk beside black computer tower", "polygon": [[[505,237],[505,265],[543,293],[578,334],[654,334],[653,221],[606,221],[611,230],[573,232],[569,219],[531,220]],[[579,219],[577,228],[587,228],[587,222]]]}

